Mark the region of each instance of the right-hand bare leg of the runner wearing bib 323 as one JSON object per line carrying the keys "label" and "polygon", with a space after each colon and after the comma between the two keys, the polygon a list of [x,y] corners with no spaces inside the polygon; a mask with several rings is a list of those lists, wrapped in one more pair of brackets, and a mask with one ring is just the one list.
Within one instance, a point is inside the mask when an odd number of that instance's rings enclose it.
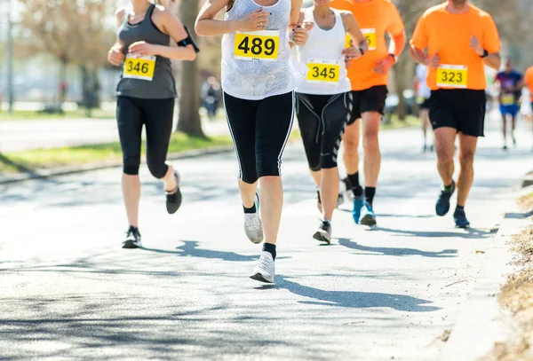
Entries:
{"label": "right-hand bare leg of the runner wearing bib 323", "polygon": [[457,206],[465,207],[468,193],[473,183],[473,155],[477,146],[477,137],[459,134],[459,177],[457,179]]}

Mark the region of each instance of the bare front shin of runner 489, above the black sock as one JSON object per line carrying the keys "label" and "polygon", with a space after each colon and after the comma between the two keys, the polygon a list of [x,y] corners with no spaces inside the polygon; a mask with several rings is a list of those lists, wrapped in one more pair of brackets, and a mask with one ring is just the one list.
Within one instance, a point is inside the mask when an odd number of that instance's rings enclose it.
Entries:
{"label": "bare front shin of runner 489, above the black sock", "polygon": [[[283,208],[283,185],[282,177],[261,177],[261,219],[265,243],[275,245]],[[245,205],[246,206],[246,205]]]}

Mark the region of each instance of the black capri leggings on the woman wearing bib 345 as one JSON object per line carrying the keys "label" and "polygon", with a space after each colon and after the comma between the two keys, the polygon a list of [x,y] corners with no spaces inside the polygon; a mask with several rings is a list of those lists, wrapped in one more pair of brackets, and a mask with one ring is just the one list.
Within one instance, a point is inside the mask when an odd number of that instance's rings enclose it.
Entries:
{"label": "black capri leggings on the woman wearing bib 345", "polygon": [[298,125],[309,168],[337,167],[337,154],[352,109],[350,92],[336,95],[297,93]]}

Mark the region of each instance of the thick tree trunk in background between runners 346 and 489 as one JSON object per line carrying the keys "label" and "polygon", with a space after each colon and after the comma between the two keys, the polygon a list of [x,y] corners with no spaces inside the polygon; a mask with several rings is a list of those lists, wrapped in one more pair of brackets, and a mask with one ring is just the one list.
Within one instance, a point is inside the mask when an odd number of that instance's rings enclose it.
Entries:
{"label": "thick tree trunk in background between runners 346 and 489", "polygon": [[[198,0],[181,0],[181,21],[194,33]],[[200,73],[197,61],[184,61],[181,67],[178,129],[192,136],[204,137],[200,119]]]}

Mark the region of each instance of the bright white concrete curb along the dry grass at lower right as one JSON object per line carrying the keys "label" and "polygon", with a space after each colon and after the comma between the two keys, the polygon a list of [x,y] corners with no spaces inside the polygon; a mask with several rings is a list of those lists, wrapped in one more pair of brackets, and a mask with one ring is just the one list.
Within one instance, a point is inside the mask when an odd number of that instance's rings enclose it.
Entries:
{"label": "bright white concrete curb along the dry grass at lower right", "polygon": [[[516,192],[517,197],[533,192],[533,186]],[[497,235],[487,244],[487,262],[468,301],[459,312],[456,326],[442,350],[445,361],[477,360],[491,352],[495,342],[511,334],[510,315],[497,302],[497,294],[513,271],[513,253],[506,245],[510,235],[520,232],[525,217],[517,205],[506,212]]]}

